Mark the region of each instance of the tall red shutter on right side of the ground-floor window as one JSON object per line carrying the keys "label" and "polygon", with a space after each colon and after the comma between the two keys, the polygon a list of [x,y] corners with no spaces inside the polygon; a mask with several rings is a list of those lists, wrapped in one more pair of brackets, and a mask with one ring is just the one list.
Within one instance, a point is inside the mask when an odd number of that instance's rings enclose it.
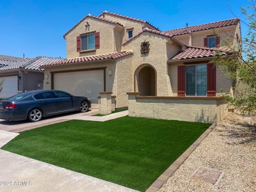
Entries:
{"label": "tall red shutter on right side of the ground-floor window", "polygon": [[212,63],[207,64],[207,96],[216,96],[216,67]]}

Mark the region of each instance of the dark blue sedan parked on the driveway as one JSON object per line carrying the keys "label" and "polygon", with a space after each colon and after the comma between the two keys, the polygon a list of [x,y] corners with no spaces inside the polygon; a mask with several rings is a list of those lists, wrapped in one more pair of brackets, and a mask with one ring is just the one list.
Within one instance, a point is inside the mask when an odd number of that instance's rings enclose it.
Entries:
{"label": "dark blue sedan parked on the driveway", "polygon": [[87,97],[76,97],[58,90],[34,90],[0,102],[0,118],[10,121],[38,122],[45,116],[91,108]]}

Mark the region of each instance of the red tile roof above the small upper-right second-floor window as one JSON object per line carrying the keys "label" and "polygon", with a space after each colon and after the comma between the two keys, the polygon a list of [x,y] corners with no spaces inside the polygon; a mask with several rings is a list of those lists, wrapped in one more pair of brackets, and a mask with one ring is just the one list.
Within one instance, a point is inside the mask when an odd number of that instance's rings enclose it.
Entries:
{"label": "red tile roof above the small upper-right second-floor window", "polygon": [[239,22],[239,19],[235,18],[235,19],[228,19],[228,20],[210,22],[210,23],[207,23],[207,24],[200,24],[200,25],[191,26],[191,27],[188,27],[188,28],[172,29],[172,30],[168,30],[168,31],[164,31],[164,32],[165,33],[170,33],[172,35],[184,35],[184,34],[188,34],[190,32],[204,31],[204,30],[207,30],[207,29],[215,29],[215,28],[233,26],[233,25],[237,25],[238,22]]}

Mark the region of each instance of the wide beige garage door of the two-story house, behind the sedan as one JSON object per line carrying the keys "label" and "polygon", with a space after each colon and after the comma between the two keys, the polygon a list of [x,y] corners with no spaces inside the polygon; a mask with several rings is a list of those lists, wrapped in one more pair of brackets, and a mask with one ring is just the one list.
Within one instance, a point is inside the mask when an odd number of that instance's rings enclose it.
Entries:
{"label": "wide beige garage door of the two-story house, behind the sedan", "polygon": [[56,73],[54,90],[89,97],[92,103],[97,103],[99,92],[104,92],[104,70]]}

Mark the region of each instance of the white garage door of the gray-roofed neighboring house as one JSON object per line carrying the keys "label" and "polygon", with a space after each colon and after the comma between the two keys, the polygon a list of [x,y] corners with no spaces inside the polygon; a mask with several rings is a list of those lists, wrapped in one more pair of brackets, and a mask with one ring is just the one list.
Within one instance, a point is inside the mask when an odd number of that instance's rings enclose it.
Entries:
{"label": "white garage door of the gray-roofed neighboring house", "polygon": [[3,81],[3,89],[0,92],[0,98],[8,98],[18,93],[17,76],[0,77],[0,81]]}

